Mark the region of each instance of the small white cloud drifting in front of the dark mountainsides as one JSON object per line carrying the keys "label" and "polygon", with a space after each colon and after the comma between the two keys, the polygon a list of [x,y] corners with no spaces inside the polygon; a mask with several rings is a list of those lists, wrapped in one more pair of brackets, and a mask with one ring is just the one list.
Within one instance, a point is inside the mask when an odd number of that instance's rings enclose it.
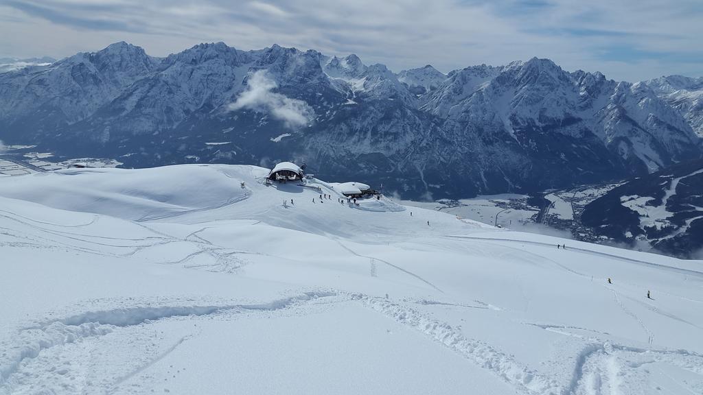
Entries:
{"label": "small white cloud drifting in front of the dark mountainsides", "polygon": [[302,100],[273,92],[277,87],[278,84],[267,75],[266,70],[254,72],[247,79],[247,90],[229,105],[229,109],[249,108],[268,112],[290,129],[307,125],[314,116],[314,110]]}

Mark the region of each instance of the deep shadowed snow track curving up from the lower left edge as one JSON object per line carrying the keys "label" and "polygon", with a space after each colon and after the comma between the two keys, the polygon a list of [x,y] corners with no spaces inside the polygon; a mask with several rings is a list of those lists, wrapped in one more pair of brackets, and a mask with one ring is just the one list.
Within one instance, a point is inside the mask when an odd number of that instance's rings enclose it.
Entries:
{"label": "deep shadowed snow track curving up from the lower left edge", "polygon": [[224,311],[276,311],[301,302],[333,297],[330,291],[304,292],[294,297],[262,304],[226,304],[221,306],[138,306],[124,309],[88,311],[20,329],[19,344],[0,344],[6,356],[0,358],[0,384],[4,384],[27,358],[37,358],[44,349],[70,344],[78,339],[107,335],[115,327],[148,324],[165,318],[208,316]]}

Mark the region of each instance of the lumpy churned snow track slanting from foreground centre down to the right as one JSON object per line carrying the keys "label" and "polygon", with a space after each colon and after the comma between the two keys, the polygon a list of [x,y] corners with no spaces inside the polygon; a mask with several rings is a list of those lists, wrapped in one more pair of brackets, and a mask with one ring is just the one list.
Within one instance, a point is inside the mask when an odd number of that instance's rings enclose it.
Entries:
{"label": "lumpy churned snow track slanting from foreground centre down to the right", "polygon": [[418,313],[418,311],[380,297],[352,294],[352,299],[361,301],[371,309],[389,316],[398,323],[408,325],[425,333],[425,335],[429,335],[435,341],[457,351],[482,368],[491,370],[502,380],[517,389],[522,389],[527,394],[565,394],[564,389],[561,389],[555,380],[527,368],[527,366],[515,361],[512,356],[498,351],[489,344],[464,337],[447,323],[439,323]]}

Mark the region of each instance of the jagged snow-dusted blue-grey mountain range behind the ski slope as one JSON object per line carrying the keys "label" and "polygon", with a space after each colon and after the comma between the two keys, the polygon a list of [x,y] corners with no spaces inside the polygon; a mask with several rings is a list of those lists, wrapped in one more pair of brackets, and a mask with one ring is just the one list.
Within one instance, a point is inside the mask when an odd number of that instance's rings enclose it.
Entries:
{"label": "jagged snow-dusted blue-grey mountain range behind the ski slope", "polygon": [[699,79],[615,82],[538,58],[396,74],[276,45],[155,58],[121,42],[0,74],[0,139],[128,167],[295,160],[408,197],[467,197],[695,160],[701,91]]}

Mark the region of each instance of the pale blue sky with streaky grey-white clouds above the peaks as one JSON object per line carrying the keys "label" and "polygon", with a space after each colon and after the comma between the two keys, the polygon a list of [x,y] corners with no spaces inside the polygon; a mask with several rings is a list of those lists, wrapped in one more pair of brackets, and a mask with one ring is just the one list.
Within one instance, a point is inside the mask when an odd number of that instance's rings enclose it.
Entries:
{"label": "pale blue sky with streaky grey-white clouds above the peaks", "polygon": [[97,51],[153,56],[200,42],[356,53],[443,72],[533,56],[634,81],[703,76],[702,0],[0,0],[0,58]]}

